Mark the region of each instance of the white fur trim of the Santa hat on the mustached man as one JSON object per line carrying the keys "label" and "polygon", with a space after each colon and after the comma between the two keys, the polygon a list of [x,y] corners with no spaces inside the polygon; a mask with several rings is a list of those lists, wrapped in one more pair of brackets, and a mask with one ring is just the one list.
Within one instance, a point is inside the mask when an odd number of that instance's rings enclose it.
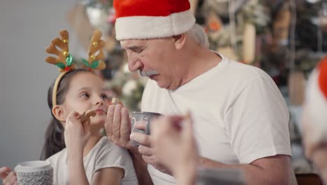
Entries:
{"label": "white fur trim of the Santa hat on the mustached man", "polygon": [[166,17],[131,16],[117,18],[116,39],[155,39],[185,33],[196,22],[191,11],[172,13]]}

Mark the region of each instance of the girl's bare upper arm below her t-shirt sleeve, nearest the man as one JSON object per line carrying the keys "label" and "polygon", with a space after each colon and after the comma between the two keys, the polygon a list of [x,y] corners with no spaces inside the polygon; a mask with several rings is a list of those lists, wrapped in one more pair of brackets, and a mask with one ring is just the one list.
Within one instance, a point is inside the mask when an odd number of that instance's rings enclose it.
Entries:
{"label": "girl's bare upper arm below her t-shirt sleeve, nearest the man", "polygon": [[119,184],[124,176],[124,170],[119,167],[103,168],[95,172],[92,184]]}

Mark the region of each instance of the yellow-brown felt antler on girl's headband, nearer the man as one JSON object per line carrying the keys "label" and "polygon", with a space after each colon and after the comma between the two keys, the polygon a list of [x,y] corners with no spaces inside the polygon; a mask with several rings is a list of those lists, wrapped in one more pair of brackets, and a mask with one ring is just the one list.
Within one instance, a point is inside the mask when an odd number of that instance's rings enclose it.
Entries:
{"label": "yellow-brown felt antler on girl's headband, nearer the man", "polygon": [[99,70],[106,68],[106,64],[102,61],[105,57],[102,50],[102,48],[105,46],[105,42],[101,40],[101,35],[102,34],[99,30],[95,30],[93,32],[91,41],[89,43],[89,58],[87,59],[87,62],[89,62],[91,66],[93,66],[93,62],[99,61],[97,67],[92,67],[93,69]]}

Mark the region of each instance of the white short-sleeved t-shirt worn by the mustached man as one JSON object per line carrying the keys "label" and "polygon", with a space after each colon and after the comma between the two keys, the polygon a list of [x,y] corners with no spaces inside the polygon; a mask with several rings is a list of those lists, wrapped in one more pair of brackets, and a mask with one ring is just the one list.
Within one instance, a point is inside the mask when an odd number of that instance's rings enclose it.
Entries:
{"label": "white short-sleeved t-shirt worn by the mustached man", "polygon": [[[149,80],[142,111],[164,115],[191,111],[200,156],[220,163],[291,156],[289,111],[275,82],[257,67],[221,57],[216,67],[176,90],[159,88]],[[152,165],[148,170],[154,184],[175,181]]]}

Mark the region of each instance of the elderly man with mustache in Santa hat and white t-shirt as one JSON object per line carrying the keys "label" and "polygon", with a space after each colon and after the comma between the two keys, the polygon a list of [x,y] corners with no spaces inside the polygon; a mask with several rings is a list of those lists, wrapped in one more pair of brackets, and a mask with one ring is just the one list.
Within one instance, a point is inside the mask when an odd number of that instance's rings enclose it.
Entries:
{"label": "elderly man with mustache in Santa hat and white t-shirt", "polygon": [[[202,166],[240,168],[250,184],[291,184],[289,114],[270,76],[209,50],[188,0],[116,0],[114,7],[129,69],[150,78],[142,111],[191,111]],[[151,136],[130,130],[126,108],[110,106],[108,138],[129,149],[141,184],[174,184],[153,155]]]}

